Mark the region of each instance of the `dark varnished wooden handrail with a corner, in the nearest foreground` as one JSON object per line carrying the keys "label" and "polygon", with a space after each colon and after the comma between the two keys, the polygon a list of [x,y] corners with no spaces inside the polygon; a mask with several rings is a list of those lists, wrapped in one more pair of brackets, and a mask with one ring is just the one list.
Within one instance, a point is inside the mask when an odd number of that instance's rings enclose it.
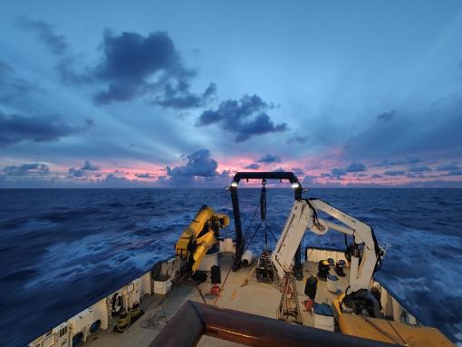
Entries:
{"label": "dark varnished wooden handrail with a corner, in the nearest foreground", "polygon": [[204,334],[255,347],[397,346],[188,301],[149,347],[195,346]]}

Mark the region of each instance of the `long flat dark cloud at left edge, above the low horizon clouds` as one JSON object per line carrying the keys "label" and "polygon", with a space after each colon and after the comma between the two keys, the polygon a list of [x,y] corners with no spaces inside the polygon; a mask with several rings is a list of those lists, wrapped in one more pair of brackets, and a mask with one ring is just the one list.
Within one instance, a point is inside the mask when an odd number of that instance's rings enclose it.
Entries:
{"label": "long flat dark cloud at left edge, above the low horizon clouds", "polygon": [[60,140],[82,128],[66,124],[58,116],[24,117],[5,115],[0,111],[0,147],[21,141],[46,142]]}

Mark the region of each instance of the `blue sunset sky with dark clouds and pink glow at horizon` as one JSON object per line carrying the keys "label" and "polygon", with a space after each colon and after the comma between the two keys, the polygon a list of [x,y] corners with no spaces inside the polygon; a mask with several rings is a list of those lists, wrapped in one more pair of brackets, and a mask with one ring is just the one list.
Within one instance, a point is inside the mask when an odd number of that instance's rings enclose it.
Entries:
{"label": "blue sunset sky with dark clouds and pink glow at horizon", "polygon": [[462,187],[460,1],[6,1],[0,188]]}

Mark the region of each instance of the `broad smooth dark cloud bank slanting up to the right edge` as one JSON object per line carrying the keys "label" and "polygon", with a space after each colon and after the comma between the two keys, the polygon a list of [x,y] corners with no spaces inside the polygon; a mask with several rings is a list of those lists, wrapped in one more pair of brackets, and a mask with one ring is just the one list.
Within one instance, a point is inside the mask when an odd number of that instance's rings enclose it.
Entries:
{"label": "broad smooth dark cloud bank slanting up to the right edge", "polygon": [[426,109],[408,107],[392,121],[375,121],[343,142],[344,157],[399,158],[402,153],[426,158],[459,158],[462,150],[462,101],[447,98]]}

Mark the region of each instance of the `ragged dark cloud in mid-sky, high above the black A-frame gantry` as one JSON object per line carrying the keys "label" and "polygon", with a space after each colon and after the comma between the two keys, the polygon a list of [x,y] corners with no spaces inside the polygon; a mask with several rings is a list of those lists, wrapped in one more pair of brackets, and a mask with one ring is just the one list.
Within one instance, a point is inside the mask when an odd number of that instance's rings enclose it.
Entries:
{"label": "ragged dark cloud in mid-sky, high above the black A-frame gantry", "polygon": [[274,105],[259,96],[244,95],[239,101],[221,101],[217,110],[202,112],[196,125],[220,124],[224,130],[233,133],[236,142],[242,142],[255,135],[287,130],[286,123],[274,124],[267,111]]}

